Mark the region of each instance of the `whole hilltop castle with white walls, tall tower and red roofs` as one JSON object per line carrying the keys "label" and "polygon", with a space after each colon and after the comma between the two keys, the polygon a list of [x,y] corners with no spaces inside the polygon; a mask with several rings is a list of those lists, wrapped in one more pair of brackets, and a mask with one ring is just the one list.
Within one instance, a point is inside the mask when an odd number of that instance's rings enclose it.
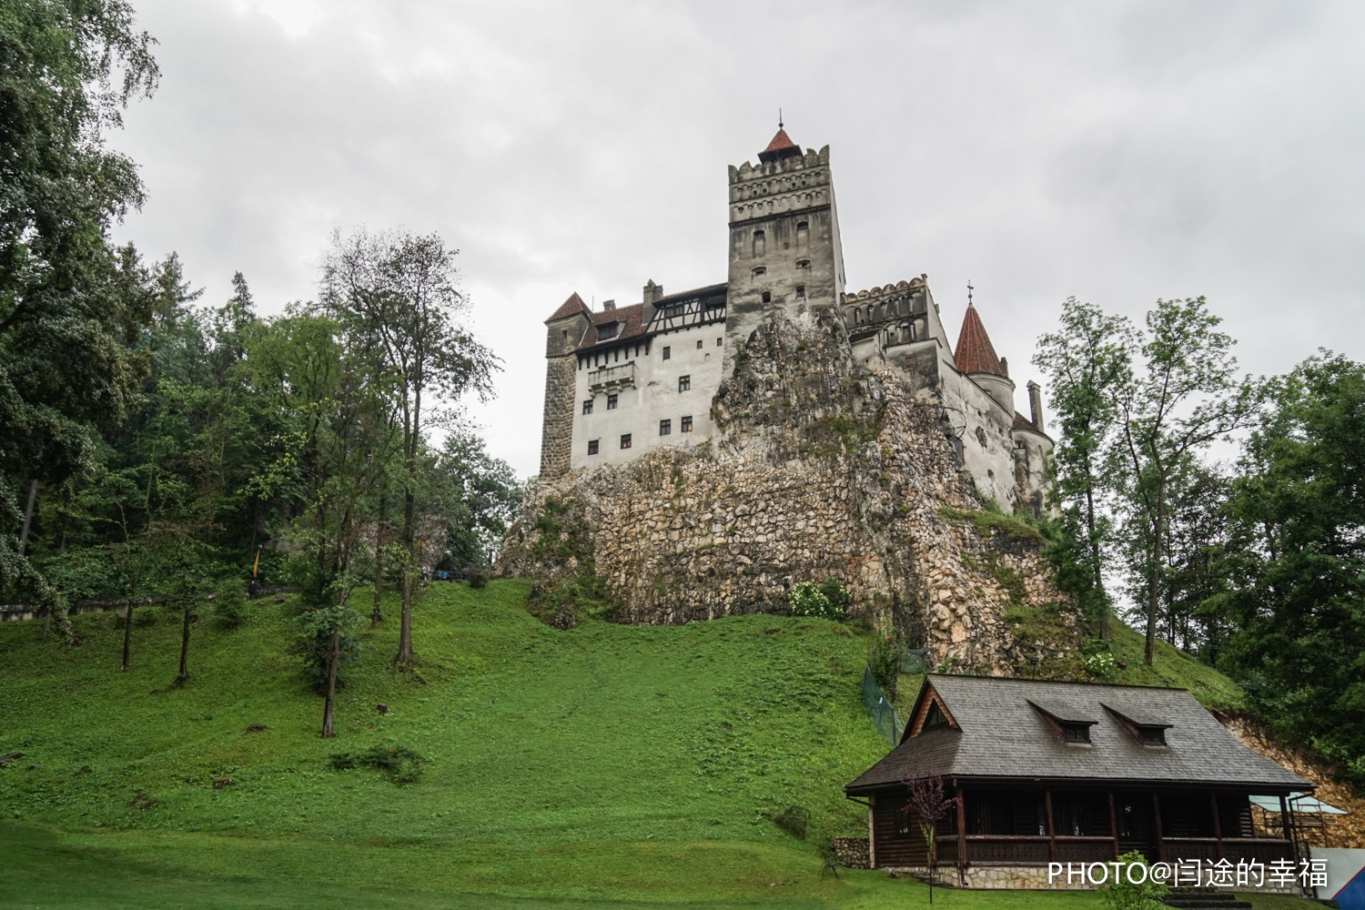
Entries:
{"label": "whole hilltop castle with white walls, tall tower and red roofs", "polygon": [[708,442],[713,396],[751,333],[835,307],[860,366],[895,371],[942,409],[981,495],[1040,513],[1052,449],[1041,389],[1028,383],[1029,416],[1014,409],[1009,363],[971,302],[954,351],[927,276],[844,292],[829,146],[803,153],[779,128],[758,157],[730,166],[723,284],[665,295],[651,280],[640,303],[607,300],[599,312],[573,293],[546,319],[541,478]]}

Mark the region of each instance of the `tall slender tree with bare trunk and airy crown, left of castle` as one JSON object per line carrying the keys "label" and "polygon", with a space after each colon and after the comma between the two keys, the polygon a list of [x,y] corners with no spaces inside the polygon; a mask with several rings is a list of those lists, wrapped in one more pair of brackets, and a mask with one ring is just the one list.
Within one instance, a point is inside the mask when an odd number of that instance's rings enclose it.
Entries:
{"label": "tall slender tree with bare trunk and airy crown, left of castle", "polygon": [[437,235],[407,232],[333,236],[324,269],[322,300],[348,344],[386,372],[397,400],[403,457],[403,617],[397,663],[412,660],[412,584],[416,554],[418,454],[431,398],[457,401],[491,394],[493,353],[457,317],[468,300],[456,287],[455,250]]}

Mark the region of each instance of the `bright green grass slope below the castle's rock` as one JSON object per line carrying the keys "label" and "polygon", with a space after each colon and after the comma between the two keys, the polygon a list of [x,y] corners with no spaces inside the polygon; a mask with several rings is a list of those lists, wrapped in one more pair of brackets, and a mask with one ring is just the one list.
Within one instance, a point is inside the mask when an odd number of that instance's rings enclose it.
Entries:
{"label": "bright green grass slope below the castle's rock", "polygon": [[[560,632],[527,615],[526,589],[434,585],[411,671],[390,664],[389,606],[328,741],[288,604],[232,632],[205,617],[182,686],[160,608],[134,626],[128,673],[113,614],[78,617],[72,649],[0,628],[0,753],[25,753],[0,769],[0,907],[927,906],[917,883],[822,876],[814,847],[867,830],[841,791],[887,748],[861,707],[865,640],[762,615]],[[420,780],[332,769],[375,744],[422,754]],[[763,817],[793,804],[805,840]]]}

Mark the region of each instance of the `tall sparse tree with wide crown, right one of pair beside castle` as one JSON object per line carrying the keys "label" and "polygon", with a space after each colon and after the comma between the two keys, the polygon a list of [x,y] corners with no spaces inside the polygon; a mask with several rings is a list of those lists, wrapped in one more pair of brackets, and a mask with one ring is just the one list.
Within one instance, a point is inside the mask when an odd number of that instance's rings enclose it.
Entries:
{"label": "tall sparse tree with wide crown, right one of pair beside castle", "polygon": [[1186,458],[1242,427],[1256,408],[1256,386],[1234,378],[1234,341],[1218,332],[1220,322],[1204,297],[1158,300],[1141,337],[1144,372],[1119,389],[1121,432],[1111,453],[1132,517],[1130,566],[1147,578],[1148,666],[1156,648],[1171,478]]}

